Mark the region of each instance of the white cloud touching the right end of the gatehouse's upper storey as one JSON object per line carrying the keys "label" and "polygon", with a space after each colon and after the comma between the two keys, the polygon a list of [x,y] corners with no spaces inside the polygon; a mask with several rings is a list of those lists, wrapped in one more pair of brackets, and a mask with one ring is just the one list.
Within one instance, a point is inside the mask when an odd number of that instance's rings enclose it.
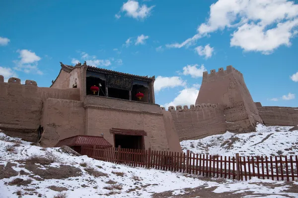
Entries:
{"label": "white cloud touching the right end of the gatehouse's upper storey", "polygon": [[186,81],[183,81],[178,76],[162,77],[157,76],[154,82],[154,91],[157,93],[165,88],[174,88],[178,86],[186,86]]}

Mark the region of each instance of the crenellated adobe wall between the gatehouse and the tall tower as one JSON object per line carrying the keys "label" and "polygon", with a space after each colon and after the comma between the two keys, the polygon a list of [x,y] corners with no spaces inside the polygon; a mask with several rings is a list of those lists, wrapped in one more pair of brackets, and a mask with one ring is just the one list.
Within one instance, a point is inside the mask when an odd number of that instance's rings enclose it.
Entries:
{"label": "crenellated adobe wall between the gatehouse and the tall tower", "polygon": [[224,110],[217,104],[169,106],[168,111],[179,136],[179,140],[194,140],[206,136],[223,134],[226,130]]}

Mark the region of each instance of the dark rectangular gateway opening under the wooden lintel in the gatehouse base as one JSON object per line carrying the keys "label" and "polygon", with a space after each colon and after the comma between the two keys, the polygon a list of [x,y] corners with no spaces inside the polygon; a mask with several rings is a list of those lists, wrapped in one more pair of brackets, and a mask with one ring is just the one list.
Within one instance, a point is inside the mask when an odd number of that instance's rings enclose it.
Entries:
{"label": "dark rectangular gateway opening under the wooden lintel in the gatehouse base", "polygon": [[143,136],[119,135],[115,134],[115,147],[130,149],[145,149]]}

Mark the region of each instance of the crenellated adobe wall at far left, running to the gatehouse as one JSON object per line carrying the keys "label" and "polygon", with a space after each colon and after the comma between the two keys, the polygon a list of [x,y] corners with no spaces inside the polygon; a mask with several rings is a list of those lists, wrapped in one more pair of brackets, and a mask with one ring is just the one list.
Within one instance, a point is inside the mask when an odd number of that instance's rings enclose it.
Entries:
{"label": "crenellated adobe wall at far left, running to the gatehouse", "polygon": [[75,88],[40,88],[32,80],[21,85],[21,80],[13,77],[4,83],[0,76],[0,130],[9,136],[36,142],[43,104],[48,98],[79,100],[80,93]]}

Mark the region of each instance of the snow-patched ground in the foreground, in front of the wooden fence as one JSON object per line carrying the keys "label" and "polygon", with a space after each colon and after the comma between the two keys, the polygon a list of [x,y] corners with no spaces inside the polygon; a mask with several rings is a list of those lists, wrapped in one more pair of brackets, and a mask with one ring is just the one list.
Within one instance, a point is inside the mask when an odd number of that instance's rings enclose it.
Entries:
{"label": "snow-patched ground in the foreground, in front of the wooden fence", "polygon": [[[32,156],[53,161],[37,163]],[[200,194],[201,198],[224,193],[241,194],[240,197],[257,194],[298,197],[298,193],[287,192],[293,186],[297,188],[298,183],[257,178],[249,182],[194,178],[183,173],[133,168],[86,155],[74,156],[59,148],[31,146],[0,133],[0,198],[55,198],[58,191],[68,198],[150,198],[166,191],[173,191],[168,197],[183,197],[190,193],[188,188],[198,187],[213,189],[207,196]],[[204,192],[207,191],[198,191]]]}

